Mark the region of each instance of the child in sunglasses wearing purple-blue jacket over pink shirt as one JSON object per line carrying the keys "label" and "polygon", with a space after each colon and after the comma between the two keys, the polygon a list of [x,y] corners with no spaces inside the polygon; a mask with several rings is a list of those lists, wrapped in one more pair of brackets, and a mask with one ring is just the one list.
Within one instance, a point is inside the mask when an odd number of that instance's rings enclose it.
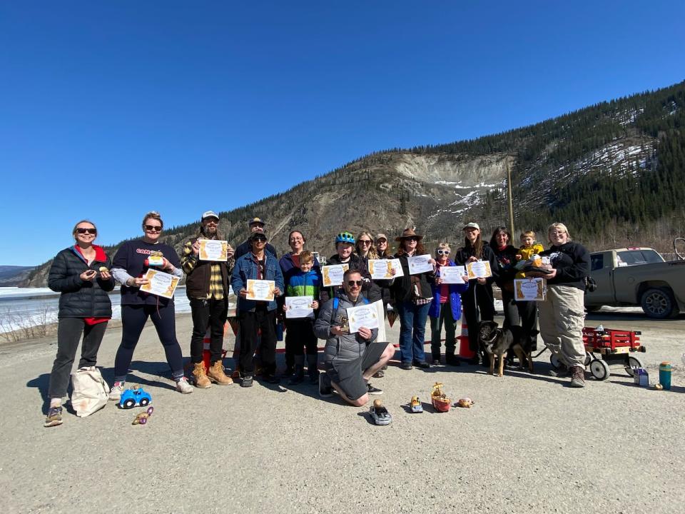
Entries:
{"label": "child in sunglasses wearing purple-blue jacket over pink shirt", "polygon": [[430,353],[433,364],[440,364],[440,333],[445,326],[445,363],[448,366],[459,366],[457,350],[457,323],[462,318],[460,294],[469,288],[469,278],[463,277],[465,283],[442,283],[440,271],[446,266],[457,266],[450,261],[452,248],[447,243],[440,243],[435,248],[435,283],[432,283],[433,299],[428,310],[430,318]]}

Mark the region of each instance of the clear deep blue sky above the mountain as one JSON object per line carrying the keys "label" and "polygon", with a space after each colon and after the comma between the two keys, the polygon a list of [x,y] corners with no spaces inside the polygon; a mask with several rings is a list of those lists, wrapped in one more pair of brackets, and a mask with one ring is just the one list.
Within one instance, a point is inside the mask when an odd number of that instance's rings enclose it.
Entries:
{"label": "clear deep blue sky above the mountain", "polygon": [[681,1],[6,1],[0,264],[685,79]]}

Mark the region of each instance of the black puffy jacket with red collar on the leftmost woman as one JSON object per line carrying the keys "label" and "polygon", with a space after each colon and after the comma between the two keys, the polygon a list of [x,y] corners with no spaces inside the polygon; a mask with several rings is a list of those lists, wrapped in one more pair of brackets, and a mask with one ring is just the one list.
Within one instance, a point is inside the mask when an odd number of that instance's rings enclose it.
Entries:
{"label": "black puffy jacket with red collar on the leftmost woman", "polygon": [[[59,252],[48,276],[48,286],[61,293],[59,297],[59,318],[111,318],[112,303],[107,291],[114,288],[114,279],[105,281],[100,278],[99,268],[112,267],[112,262],[99,246],[96,258],[90,266],[73,246]],[[81,273],[88,269],[98,272],[96,280],[82,281]]]}

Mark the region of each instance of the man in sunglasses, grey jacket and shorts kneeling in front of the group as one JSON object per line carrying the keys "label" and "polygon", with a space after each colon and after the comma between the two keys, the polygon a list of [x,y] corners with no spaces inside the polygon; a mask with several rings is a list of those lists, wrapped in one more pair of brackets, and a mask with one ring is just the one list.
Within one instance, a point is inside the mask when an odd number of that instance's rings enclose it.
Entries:
{"label": "man in sunglasses, grey jacket and shorts kneeling in front of the group", "polygon": [[357,333],[347,328],[347,308],[368,303],[361,295],[362,276],[357,270],[347,270],[342,277],[344,291],[324,303],[314,323],[314,333],[326,340],[325,373],[319,375],[319,395],[326,398],[331,388],[350,405],[361,407],[369,395],[381,394],[369,378],[395,354],[390,343],[375,343],[377,328],[362,327]]}

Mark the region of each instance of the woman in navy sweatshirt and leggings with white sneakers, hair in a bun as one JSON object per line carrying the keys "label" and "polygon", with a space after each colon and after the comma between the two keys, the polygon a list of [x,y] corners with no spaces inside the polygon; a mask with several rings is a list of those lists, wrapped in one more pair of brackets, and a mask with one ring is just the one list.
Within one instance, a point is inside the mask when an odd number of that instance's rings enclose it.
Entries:
{"label": "woman in navy sweatshirt and leggings with white sneakers, hair in a bun", "polygon": [[148,318],[157,330],[159,340],[171,368],[171,376],[179,393],[192,393],[193,386],[183,373],[183,354],[176,339],[176,311],[173,298],[163,298],[141,291],[148,283],[148,269],[153,268],[183,277],[181,261],[176,250],[160,243],[164,223],[159,213],[148,212],[143,217],[145,236],[126,241],[119,247],[112,262],[112,274],[121,283],[121,344],[114,360],[114,385],[109,393],[110,400],[119,400],[125,389],[128,366],[133,359],[138,339]]}

